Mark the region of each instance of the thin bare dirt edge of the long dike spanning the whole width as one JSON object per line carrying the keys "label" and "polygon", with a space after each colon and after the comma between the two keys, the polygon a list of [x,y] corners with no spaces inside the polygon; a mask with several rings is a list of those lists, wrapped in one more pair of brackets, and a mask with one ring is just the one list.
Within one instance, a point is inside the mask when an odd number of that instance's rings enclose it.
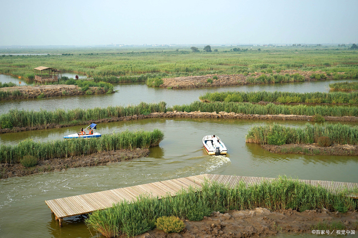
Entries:
{"label": "thin bare dirt edge of the long dike spanning the whole width", "polygon": [[[130,121],[130,120],[139,120],[146,118],[172,118],[172,117],[183,117],[183,118],[223,118],[223,119],[252,119],[252,120],[289,120],[289,121],[312,121],[313,116],[299,116],[299,115],[258,115],[258,114],[242,114],[234,112],[153,112],[149,115],[134,115],[134,116],[125,116],[125,117],[112,117],[105,118],[100,120],[84,121],[79,122],[78,124],[63,125],[63,124],[47,124],[41,126],[26,126],[26,127],[13,127],[12,129],[5,128],[0,129],[0,133],[8,132],[20,132],[20,131],[33,131],[33,130],[42,130],[50,128],[61,128],[68,126],[76,125],[86,125],[90,123],[105,123],[105,122],[116,122],[116,121]],[[344,117],[332,117],[325,116],[326,121],[350,121],[358,122],[358,117],[344,116]]]}

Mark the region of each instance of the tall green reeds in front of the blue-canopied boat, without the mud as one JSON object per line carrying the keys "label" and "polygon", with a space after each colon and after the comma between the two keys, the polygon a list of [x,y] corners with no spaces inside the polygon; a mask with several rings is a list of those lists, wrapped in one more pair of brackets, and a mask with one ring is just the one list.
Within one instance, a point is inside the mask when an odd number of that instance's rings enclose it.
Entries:
{"label": "tall green reeds in front of the blue-canopied boat, without the mud", "polygon": [[38,160],[48,160],[102,151],[148,148],[159,145],[163,139],[163,132],[155,129],[153,131],[124,131],[88,140],[69,139],[47,142],[24,140],[14,146],[0,145],[0,163],[18,163],[28,155]]}

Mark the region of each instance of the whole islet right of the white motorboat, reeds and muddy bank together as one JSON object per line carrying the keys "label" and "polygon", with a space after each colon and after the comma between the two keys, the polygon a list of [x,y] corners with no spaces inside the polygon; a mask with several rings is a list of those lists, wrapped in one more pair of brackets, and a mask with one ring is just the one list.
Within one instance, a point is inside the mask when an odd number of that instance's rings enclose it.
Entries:
{"label": "whole islet right of the white motorboat, reeds and muddy bank together", "polygon": [[358,127],[343,124],[310,124],[285,127],[276,123],[253,126],[246,142],[270,152],[305,155],[358,155]]}

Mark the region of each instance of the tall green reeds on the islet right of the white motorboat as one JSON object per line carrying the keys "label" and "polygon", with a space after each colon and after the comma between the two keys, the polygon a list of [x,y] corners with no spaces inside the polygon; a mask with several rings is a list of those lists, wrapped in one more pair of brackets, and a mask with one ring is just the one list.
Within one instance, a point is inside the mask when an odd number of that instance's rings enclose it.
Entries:
{"label": "tall green reeds on the islet right of the white motorboat", "polygon": [[253,126],[246,134],[246,142],[272,144],[271,138],[284,138],[282,144],[312,144],[320,137],[328,137],[333,144],[358,145],[358,127],[345,124],[310,124],[303,127],[286,127],[276,123]]}

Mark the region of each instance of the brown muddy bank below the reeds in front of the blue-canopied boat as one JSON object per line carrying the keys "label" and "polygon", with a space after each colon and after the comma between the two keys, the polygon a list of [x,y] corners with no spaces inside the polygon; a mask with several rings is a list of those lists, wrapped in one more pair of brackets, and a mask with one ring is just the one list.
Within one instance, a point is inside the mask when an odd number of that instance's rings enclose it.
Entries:
{"label": "brown muddy bank below the reeds in front of the blue-canopied boat", "polygon": [[36,166],[30,168],[26,168],[21,164],[0,164],[0,178],[5,179],[14,176],[21,177],[30,174],[61,171],[69,168],[106,165],[147,155],[149,155],[149,149],[137,148],[135,150],[102,151],[90,155],[42,160]]}

